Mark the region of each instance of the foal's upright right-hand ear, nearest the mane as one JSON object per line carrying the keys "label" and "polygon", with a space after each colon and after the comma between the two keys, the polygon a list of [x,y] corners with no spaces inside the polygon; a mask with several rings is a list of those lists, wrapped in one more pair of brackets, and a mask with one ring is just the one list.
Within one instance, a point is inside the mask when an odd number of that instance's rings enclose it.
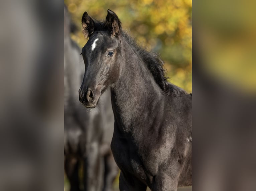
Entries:
{"label": "foal's upright right-hand ear, nearest the mane", "polygon": [[118,19],[117,15],[109,9],[106,17],[106,24],[112,37],[118,34],[118,32],[121,30],[121,21]]}

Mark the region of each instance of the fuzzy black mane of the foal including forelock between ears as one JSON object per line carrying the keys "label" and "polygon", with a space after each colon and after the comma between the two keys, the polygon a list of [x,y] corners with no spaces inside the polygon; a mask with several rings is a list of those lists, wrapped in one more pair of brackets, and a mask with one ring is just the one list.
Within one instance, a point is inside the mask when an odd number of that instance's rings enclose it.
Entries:
{"label": "fuzzy black mane of the foal including forelock between ears", "polygon": [[[92,18],[94,21],[94,32],[107,31],[106,21],[99,21]],[[146,51],[142,46],[139,46],[136,41],[128,35],[125,31],[121,30],[120,34],[125,37],[126,41],[131,45],[136,53],[142,58],[148,70],[151,72],[155,82],[161,88],[163,95],[178,96],[186,92],[181,88],[169,83],[168,77],[165,77],[165,70],[163,69],[163,60],[155,53]],[[91,36],[91,35],[89,35]]]}

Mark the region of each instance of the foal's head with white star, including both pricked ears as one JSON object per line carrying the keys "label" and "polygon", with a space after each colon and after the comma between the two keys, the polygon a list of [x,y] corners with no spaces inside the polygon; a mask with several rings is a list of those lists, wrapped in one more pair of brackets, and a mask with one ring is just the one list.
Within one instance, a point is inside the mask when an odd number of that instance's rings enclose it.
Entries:
{"label": "foal's head with white star, including both pricked ears", "polygon": [[104,22],[91,18],[85,12],[82,26],[89,40],[82,49],[85,75],[79,90],[79,100],[84,106],[94,108],[104,91],[120,76],[121,22],[111,10],[108,10]]}

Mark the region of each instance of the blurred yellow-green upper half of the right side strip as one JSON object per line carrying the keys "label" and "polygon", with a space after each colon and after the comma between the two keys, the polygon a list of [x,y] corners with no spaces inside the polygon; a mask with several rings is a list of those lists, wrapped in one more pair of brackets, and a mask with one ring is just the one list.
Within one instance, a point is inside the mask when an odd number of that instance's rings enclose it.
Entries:
{"label": "blurred yellow-green upper half of the right side strip", "polygon": [[244,94],[256,92],[255,6],[251,0],[194,6],[193,56],[205,73]]}

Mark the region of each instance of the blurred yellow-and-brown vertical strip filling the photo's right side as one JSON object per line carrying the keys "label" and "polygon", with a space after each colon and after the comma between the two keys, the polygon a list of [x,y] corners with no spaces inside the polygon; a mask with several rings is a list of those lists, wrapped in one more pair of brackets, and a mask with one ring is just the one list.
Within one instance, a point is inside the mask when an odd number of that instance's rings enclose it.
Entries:
{"label": "blurred yellow-and-brown vertical strip filling the photo's right side", "polygon": [[193,4],[193,189],[256,189],[256,1]]}

